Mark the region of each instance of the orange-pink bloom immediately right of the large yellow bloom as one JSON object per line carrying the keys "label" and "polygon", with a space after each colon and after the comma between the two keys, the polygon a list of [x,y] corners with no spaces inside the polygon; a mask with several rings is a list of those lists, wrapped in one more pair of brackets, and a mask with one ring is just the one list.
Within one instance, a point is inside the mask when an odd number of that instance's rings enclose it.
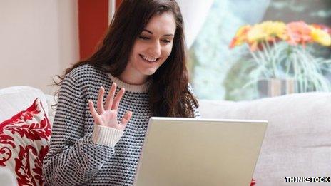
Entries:
{"label": "orange-pink bloom immediately right of the large yellow bloom", "polygon": [[310,36],[311,29],[303,21],[296,21],[287,24],[287,42],[292,45],[302,44],[305,46],[305,43],[311,42],[312,37]]}

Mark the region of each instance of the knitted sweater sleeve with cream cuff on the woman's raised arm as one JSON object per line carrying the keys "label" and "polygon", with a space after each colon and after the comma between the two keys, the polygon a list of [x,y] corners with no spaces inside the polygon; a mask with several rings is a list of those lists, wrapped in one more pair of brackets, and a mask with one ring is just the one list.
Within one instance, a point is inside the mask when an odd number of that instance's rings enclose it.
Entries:
{"label": "knitted sweater sleeve with cream cuff on the woman's raised arm", "polygon": [[[47,185],[82,185],[112,158],[121,130],[98,128],[86,133],[86,98],[73,76],[64,78],[58,94],[49,153],[43,163]],[[109,140],[111,139],[111,140]]]}

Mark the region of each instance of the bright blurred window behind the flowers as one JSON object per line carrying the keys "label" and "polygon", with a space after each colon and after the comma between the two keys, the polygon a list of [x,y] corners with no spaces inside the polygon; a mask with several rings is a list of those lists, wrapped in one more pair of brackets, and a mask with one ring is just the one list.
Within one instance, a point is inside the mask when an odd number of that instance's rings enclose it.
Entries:
{"label": "bright blurred window behind the flowers", "polygon": [[[248,48],[230,49],[229,43],[240,26],[262,21],[303,20],[307,24],[331,25],[329,0],[215,0],[203,28],[190,47],[190,72],[195,94],[200,99],[251,100],[255,88],[243,86],[248,74]],[[331,58],[330,47],[320,47],[317,56]],[[331,79],[330,73],[323,76]]]}

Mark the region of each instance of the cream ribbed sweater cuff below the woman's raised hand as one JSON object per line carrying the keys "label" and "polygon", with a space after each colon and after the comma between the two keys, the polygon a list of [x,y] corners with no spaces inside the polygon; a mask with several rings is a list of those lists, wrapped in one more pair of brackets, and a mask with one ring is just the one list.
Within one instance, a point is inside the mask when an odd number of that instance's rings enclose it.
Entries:
{"label": "cream ribbed sweater cuff below the woman's raised hand", "polygon": [[94,124],[92,141],[98,145],[106,145],[113,148],[121,140],[123,134],[122,130]]}

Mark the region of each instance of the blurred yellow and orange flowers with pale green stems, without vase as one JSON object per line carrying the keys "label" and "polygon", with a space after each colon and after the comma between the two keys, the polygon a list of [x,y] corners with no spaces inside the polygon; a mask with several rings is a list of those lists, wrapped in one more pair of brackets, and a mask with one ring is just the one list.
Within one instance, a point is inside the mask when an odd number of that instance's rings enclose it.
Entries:
{"label": "blurred yellow and orange flowers with pale green stems, without vase", "polygon": [[249,47],[253,68],[246,86],[263,79],[292,78],[297,92],[331,91],[330,81],[323,75],[331,72],[331,60],[312,55],[316,44],[331,46],[330,34],[329,27],[304,21],[264,21],[241,26],[230,48],[244,43]]}

